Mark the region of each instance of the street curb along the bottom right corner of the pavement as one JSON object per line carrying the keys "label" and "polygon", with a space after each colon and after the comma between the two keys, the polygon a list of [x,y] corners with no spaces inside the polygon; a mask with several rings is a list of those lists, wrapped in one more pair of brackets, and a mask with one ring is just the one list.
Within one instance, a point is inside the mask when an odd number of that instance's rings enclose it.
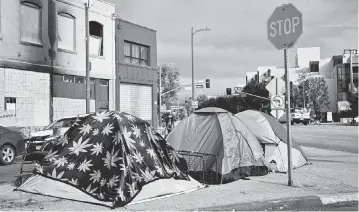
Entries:
{"label": "street curb along the bottom right corner of the pavement", "polygon": [[[303,210],[330,205],[358,204],[358,193],[294,197],[194,209],[194,211],[277,211]],[[193,210],[192,210],[193,211]]]}

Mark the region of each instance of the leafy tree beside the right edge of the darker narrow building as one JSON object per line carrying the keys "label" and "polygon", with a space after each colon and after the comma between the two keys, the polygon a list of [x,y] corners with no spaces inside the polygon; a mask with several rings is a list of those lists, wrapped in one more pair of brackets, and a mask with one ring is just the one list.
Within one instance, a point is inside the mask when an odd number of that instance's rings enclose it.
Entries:
{"label": "leafy tree beside the right edge of the darker narrow building", "polygon": [[[180,86],[179,69],[169,65],[162,65],[161,70],[161,93],[173,90],[169,93],[162,95],[161,99],[162,104],[166,105],[166,109],[170,109],[172,103],[177,100],[177,93],[179,90],[175,88],[178,88]],[[160,97],[159,95],[160,94],[158,94],[158,98]]]}

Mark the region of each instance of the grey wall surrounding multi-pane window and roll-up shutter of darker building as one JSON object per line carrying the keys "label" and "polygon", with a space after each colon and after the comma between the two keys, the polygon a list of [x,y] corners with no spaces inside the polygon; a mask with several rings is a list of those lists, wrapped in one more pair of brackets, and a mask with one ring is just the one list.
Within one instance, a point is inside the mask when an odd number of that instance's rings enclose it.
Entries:
{"label": "grey wall surrounding multi-pane window and roll-up shutter of darker building", "polygon": [[[130,41],[150,48],[150,65],[140,66],[124,62],[124,42]],[[152,125],[157,126],[157,38],[156,31],[122,19],[116,19],[116,110],[120,110],[119,83],[152,86]]]}

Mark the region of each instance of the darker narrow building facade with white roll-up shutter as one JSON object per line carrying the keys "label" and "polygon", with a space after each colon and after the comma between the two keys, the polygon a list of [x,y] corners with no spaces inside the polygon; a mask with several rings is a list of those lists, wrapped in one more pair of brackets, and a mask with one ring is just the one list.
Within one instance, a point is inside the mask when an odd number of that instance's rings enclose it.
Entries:
{"label": "darker narrow building facade with white roll-up shutter", "polygon": [[156,31],[116,18],[116,110],[157,126]]}

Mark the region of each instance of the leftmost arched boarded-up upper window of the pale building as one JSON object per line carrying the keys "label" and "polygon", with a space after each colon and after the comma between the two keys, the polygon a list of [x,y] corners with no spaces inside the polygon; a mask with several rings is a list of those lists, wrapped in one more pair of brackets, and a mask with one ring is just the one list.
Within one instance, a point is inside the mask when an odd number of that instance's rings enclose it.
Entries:
{"label": "leftmost arched boarded-up upper window of the pale building", "polygon": [[42,45],[41,7],[31,2],[22,2],[20,21],[21,41]]}

